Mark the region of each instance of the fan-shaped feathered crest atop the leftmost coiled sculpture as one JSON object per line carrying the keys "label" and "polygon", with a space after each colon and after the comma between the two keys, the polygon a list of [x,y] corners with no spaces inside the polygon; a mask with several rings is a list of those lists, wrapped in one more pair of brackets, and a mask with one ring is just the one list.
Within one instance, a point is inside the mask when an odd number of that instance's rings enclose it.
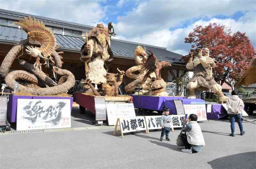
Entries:
{"label": "fan-shaped feathered crest atop the leftmost coiled sculpture", "polygon": [[31,16],[19,20],[20,22],[13,23],[19,25],[28,34],[29,43],[38,46],[37,49],[45,58],[51,56],[57,43],[54,34],[44,26],[43,21],[40,22]]}

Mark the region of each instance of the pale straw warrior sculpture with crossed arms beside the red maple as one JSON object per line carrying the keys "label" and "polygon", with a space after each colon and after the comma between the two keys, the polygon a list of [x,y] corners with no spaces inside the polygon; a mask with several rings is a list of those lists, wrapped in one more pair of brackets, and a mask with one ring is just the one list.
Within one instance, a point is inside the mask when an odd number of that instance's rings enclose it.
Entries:
{"label": "pale straw warrior sculpture with crossed arms beside the red maple", "polygon": [[211,89],[213,92],[218,94],[220,101],[226,101],[227,97],[224,96],[221,91],[221,85],[215,82],[212,77],[212,68],[215,67],[215,63],[214,60],[209,57],[209,49],[202,48],[198,50],[198,57],[195,57],[193,60],[193,53],[190,53],[189,62],[186,65],[188,70],[193,69],[194,71],[194,75],[187,85],[187,89],[190,92],[189,98],[196,98],[195,89],[199,91]]}

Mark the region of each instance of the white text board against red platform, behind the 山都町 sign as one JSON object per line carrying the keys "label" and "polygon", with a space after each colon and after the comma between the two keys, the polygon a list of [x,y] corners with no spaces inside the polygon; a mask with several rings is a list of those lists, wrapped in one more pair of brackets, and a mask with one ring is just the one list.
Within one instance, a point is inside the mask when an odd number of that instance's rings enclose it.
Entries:
{"label": "white text board against red platform, behind the \u5c71\u90fd\u753a sign", "polygon": [[132,103],[108,103],[106,106],[108,125],[115,125],[117,118],[136,116]]}

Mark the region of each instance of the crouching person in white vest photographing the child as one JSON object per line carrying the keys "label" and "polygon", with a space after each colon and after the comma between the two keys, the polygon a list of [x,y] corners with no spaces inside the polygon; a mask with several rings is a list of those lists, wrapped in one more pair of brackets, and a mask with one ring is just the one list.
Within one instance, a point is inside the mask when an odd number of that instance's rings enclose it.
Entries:
{"label": "crouching person in white vest photographing the child", "polygon": [[186,153],[199,152],[205,143],[203,133],[197,123],[196,114],[190,114],[188,119],[183,119],[182,131],[185,132],[185,135],[182,136],[185,149],[181,151]]}

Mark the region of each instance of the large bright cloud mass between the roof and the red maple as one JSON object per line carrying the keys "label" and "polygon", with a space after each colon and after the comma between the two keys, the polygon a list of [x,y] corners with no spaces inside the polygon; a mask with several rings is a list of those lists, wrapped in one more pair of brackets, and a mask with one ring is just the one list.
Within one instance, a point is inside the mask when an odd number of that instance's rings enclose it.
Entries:
{"label": "large bright cloud mass between the roof and the red maple", "polygon": [[[255,2],[248,1],[184,1],[142,2],[132,11],[117,18],[115,38],[167,47],[167,50],[188,54],[191,44],[184,43],[184,38],[196,25],[206,26],[217,23],[231,28],[232,33],[246,32],[254,47],[255,40]],[[247,12],[239,20],[218,19],[213,16],[231,16],[237,11]],[[195,21],[195,18],[201,18]],[[207,18],[212,18],[208,20]],[[169,28],[181,27],[172,31]]]}

